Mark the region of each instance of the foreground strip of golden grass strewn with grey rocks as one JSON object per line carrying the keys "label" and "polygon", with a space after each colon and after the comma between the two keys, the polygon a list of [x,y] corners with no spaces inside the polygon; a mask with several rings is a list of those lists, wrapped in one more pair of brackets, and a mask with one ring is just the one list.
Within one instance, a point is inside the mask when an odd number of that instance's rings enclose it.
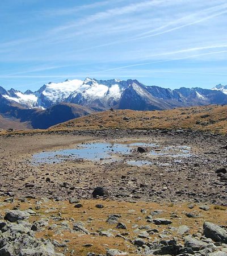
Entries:
{"label": "foreground strip of golden grass strewn with grey rocks", "polygon": [[2,197],[0,255],[227,255],[226,207]]}

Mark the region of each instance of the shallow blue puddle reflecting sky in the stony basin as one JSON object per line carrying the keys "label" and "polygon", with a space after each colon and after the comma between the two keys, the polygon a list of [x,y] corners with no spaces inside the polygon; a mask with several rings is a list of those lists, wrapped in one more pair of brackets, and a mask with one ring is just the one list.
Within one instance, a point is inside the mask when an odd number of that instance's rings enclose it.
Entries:
{"label": "shallow blue puddle reflecting sky in the stony basin", "polygon": [[[151,156],[171,156],[171,157],[188,157],[190,155],[190,147],[172,146],[162,147],[153,143],[134,142],[134,143],[89,143],[79,144],[75,148],[46,151],[33,155],[33,164],[53,164],[63,162],[65,160],[87,159],[95,162],[113,162],[117,160],[127,160],[127,155],[137,150],[137,147],[145,147],[148,152],[141,154],[142,159],[132,160],[127,163],[132,166],[142,166],[145,164],[157,164],[149,161]],[[124,156],[124,158],[123,158]],[[137,155],[138,156],[138,155]],[[147,159],[144,159],[146,157]],[[161,163],[160,163],[161,164]]]}

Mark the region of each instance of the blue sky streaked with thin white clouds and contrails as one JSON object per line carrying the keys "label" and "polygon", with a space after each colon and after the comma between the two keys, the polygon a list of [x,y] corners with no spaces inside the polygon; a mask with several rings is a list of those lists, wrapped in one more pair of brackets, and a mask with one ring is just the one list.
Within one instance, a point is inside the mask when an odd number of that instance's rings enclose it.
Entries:
{"label": "blue sky streaked with thin white clouds and contrails", "polygon": [[226,0],[1,0],[0,85],[227,84]]}

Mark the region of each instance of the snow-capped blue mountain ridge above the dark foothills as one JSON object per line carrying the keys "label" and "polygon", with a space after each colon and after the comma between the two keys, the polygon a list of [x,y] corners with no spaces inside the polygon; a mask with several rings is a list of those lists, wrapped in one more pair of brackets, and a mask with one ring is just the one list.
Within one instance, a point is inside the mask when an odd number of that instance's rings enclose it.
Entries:
{"label": "snow-capped blue mountain ridge above the dark foothills", "polygon": [[36,92],[22,93],[0,86],[0,94],[23,108],[48,109],[61,102],[78,104],[88,109],[102,111],[110,108],[154,110],[180,106],[227,104],[227,86],[217,85],[212,90],[202,88],[166,89],[145,86],[137,80],[65,80],[49,82]]}

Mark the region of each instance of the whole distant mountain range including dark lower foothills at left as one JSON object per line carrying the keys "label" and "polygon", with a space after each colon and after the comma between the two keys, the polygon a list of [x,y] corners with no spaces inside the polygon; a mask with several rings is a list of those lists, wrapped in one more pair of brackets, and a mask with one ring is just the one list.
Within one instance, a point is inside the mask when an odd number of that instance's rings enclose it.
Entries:
{"label": "whole distant mountain range including dark lower foothills at left", "polygon": [[[65,80],[49,82],[36,92],[0,86],[0,120],[46,129],[82,115],[113,109],[164,110],[175,107],[227,104],[227,85],[213,89],[166,89],[137,80]],[[0,128],[3,121],[0,122]],[[11,123],[14,125],[14,123]],[[2,125],[3,127],[3,125]]]}

